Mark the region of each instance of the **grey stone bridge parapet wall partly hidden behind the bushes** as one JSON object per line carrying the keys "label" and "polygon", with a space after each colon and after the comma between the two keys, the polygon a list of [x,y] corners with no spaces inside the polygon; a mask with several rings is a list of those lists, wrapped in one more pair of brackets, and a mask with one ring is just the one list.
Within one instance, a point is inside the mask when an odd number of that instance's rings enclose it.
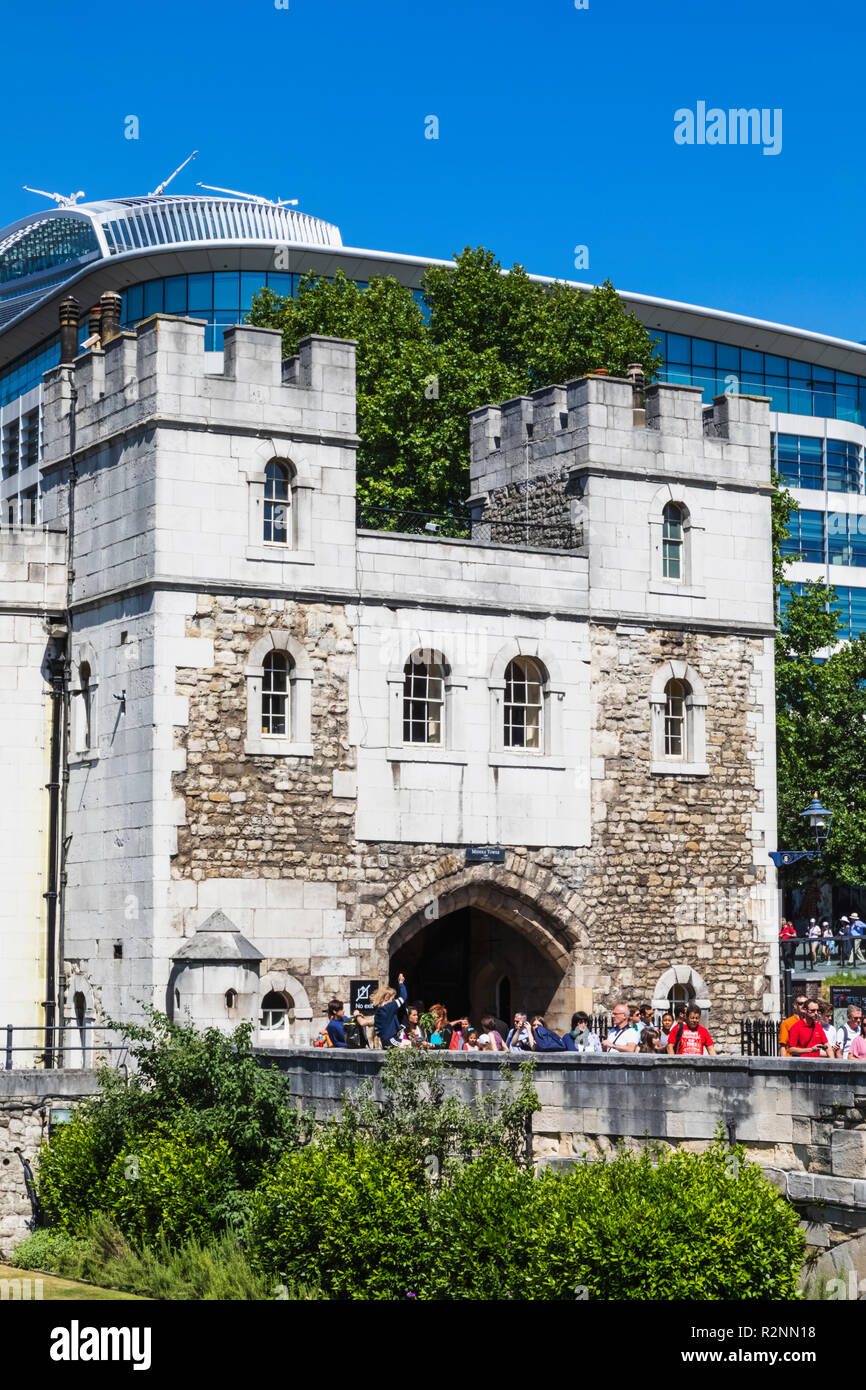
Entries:
{"label": "grey stone bridge parapet wall partly hidden behind the bushes", "polygon": [[[382,1095],[382,1052],[297,1048],[265,1056],[288,1073],[299,1106],[320,1118],[338,1115],[343,1091],[366,1079]],[[502,1059],[464,1054],[449,1056],[448,1065],[455,1093],[471,1101],[496,1087]],[[535,1059],[535,1087],[539,1159],[567,1165],[584,1154],[599,1158],[617,1140],[631,1148],[656,1140],[698,1151],[723,1126],[795,1202],[820,1252],[819,1269],[833,1275],[852,1268],[866,1276],[860,1063],[555,1054]],[[93,1072],[0,1072],[0,1255],[28,1233],[31,1216],[15,1147],[32,1159],[47,1134],[50,1106],[95,1088]]]}

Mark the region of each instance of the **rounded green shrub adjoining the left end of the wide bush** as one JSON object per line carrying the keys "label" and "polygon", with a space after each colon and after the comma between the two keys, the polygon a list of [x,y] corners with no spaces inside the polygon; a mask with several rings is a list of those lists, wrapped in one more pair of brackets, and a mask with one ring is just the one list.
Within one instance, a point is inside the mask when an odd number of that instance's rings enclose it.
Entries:
{"label": "rounded green shrub adjoining the left end of the wide bush", "polygon": [[253,1198],[250,1262],[341,1298],[416,1293],[428,1230],[427,1177],[400,1155],[357,1145],[288,1154]]}

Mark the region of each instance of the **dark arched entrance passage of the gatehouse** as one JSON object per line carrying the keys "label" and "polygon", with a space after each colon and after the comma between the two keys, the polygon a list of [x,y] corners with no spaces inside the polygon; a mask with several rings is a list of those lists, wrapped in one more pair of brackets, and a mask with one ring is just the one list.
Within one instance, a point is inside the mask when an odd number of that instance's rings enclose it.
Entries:
{"label": "dark arched entrance passage of the gatehouse", "polygon": [[410,1001],[443,1004],[448,1016],[510,1023],[513,1009],[548,1015],[564,969],[520,931],[480,908],[460,908],[416,931],[391,959]]}

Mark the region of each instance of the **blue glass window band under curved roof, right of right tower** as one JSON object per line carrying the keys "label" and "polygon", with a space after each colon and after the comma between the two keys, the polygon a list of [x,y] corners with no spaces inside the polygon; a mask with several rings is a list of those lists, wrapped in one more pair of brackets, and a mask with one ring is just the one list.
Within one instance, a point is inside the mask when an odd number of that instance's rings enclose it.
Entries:
{"label": "blue glass window band under curved roof, right of right tower", "polygon": [[866,424],[866,378],[852,377],[830,367],[815,367],[795,357],[731,348],[708,338],[685,338],[657,328],[649,332],[660,339],[664,381],[701,386],[703,400],[726,391],[737,395],[769,396],[771,410],[792,416],[819,416],[826,420],[851,420]]}

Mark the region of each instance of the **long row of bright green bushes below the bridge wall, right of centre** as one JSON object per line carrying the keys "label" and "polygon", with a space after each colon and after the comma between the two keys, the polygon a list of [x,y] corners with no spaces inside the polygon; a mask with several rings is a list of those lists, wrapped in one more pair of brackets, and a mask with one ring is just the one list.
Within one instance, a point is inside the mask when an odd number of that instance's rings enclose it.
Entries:
{"label": "long row of bright green bushes below the bridge wall, right of centre", "polygon": [[438,1190],[386,1148],[289,1155],[253,1200],[252,1264],[342,1298],[790,1300],[795,1211],[717,1141],[535,1177],[502,1155]]}

